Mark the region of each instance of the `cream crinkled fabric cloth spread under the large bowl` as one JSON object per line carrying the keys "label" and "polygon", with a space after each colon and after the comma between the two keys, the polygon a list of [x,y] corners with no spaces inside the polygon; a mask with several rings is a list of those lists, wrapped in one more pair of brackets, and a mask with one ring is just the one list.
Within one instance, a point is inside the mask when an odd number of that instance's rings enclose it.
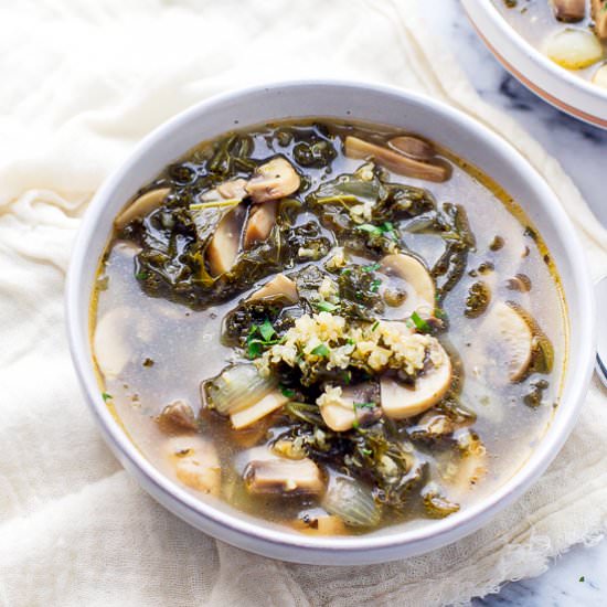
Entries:
{"label": "cream crinkled fabric cloth spread under the large bowl", "polygon": [[[424,0],[419,0],[422,2]],[[372,567],[289,565],[166,512],[102,443],[64,336],[78,217],[150,129],[228,87],[343,76],[411,87],[510,139],[579,228],[605,231],[558,163],[483,104],[415,0],[20,0],[0,6],[0,605],[439,605],[540,574],[607,521],[607,418],[595,386],[549,472],[475,535]]]}

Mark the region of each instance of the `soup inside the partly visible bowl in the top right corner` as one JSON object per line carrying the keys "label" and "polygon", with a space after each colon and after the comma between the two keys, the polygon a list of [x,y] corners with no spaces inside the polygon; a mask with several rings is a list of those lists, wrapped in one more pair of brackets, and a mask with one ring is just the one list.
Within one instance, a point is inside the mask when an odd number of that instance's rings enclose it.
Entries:
{"label": "soup inside the partly visible bowl in the top right corner", "polygon": [[556,64],[607,88],[605,0],[493,0],[507,21]]}

